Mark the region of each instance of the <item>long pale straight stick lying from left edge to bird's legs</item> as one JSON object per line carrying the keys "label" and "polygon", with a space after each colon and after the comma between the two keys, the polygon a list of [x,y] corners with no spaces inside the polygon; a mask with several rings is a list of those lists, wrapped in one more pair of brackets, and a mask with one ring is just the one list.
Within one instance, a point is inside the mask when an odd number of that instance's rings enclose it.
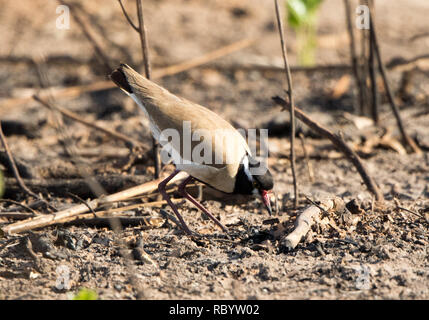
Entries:
{"label": "long pale straight stick lying from left edge to bird's legs", "polygon": [[[177,175],[174,179],[171,180],[170,183],[177,182],[179,180],[184,179],[186,174],[183,175]],[[114,202],[114,201],[120,201],[120,200],[126,200],[128,198],[143,194],[143,193],[150,193],[158,188],[158,184],[162,181],[162,179],[153,180],[150,182],[147,182],[145,184],[123,190],[121,192],[117,192],[108,196],[102,196],[97,199],[88,201],[85,204],[79,204],[76,206],[73,206],[71,208],[58,211],[54,214],[46,214],[43,216],[38,216],[34,219],[29,219],[17,223],[10,224],[4,228],[2,228],[3,232],[7,235],[20,233],[23,231],[32,230],[35,228],[41,228],[45,226],[49,226],[52,224],[57,223],[58,221],[62,221],[66,218],[73,217],[82,213],[88,212],[88,206],[90,206],[93,210],[95,210],[97,207],[108,203],[108,202]],[[113,229],[115,229],[115,226],[112,226]]]}

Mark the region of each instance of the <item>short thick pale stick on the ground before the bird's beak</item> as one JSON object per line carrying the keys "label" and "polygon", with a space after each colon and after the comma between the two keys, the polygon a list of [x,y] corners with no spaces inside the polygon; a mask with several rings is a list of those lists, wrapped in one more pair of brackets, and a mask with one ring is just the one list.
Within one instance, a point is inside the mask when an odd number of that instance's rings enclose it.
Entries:
{"label": "short thick pale stick on the ground before the bird's beak", "polygon": [[298,216],[295,222],[295,229],[283,239],[282,243],[289,250],[295,249],[301,239],[311,229],[311,226],[318,220],[320,213],[340,207],[344,207],[344,203],[339,198],[327,199],[317,206],[312,205],[308,207]]}

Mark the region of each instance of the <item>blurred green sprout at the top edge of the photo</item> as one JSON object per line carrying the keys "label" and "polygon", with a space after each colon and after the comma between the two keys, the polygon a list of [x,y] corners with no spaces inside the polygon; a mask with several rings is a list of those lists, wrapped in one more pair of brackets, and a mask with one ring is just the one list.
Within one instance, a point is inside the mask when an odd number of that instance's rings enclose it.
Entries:
{"label": "blurred green sprout at the top edge of the photo", "polygon": [[313,65],[316,50],[317,9],[322,0],[286,0],[287,21],[298,40],[298,63]]}

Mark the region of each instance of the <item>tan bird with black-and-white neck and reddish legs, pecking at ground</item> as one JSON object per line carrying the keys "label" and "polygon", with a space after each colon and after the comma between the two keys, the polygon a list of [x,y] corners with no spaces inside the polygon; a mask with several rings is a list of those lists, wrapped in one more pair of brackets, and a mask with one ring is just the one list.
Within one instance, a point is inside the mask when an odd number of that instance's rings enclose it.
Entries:
{"label": "tan bird with black-and-white neck and reddish legs, pecking at ground", "polygon": [[[273,176],[268,168],[253,170],[261,163],[252,156],[244,137],[229,122],[206,107],[170,93],[126,64],[121,63],[110,74],[110,79],[149,118],[150,131],[157,142],[167,145],[164,133],[177,133],[179,141],[170,141],[168,149],[176,169],[159,183],[158,190],[188,235],[192,235],[191,230],[166,192],[167,183],[180,171],[189,176],[178,186],[179,193],[225,233],[228,229],[186,191],[191,181],[199,181],[226,194],[259,194],[268,212],[272,213]],[[186,133],[203,138],[186,141]]]}

